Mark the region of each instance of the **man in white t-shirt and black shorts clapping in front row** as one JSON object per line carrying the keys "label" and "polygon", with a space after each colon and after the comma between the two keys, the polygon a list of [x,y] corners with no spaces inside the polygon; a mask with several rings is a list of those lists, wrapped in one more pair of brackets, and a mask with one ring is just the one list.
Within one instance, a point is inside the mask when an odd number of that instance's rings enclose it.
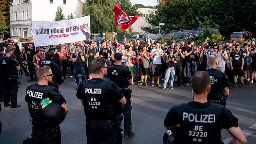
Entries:
{"label": "man in white t-shirt and black shorts clapping in front row", "polygon": [[151,86],[154,86],[154,80],[155,76],[157,76],[157,86],[161,86],[159,84],[160,76],[161,76],[161,58],[163,58],[164,52],[160,48],[160,44],[156,43],[156,48],[152,49],[150,53],[150,58],[153,59],[153,64],[151,66],[152,68],[152,84]]}

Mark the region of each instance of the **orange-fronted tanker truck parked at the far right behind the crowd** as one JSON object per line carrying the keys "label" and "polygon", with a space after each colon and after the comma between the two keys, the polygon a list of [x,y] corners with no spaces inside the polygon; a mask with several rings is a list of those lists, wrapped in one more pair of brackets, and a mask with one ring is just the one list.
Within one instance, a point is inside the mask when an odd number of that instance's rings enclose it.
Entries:
{"label": "orange-fronted tanker truck parked at the far right behind the crowd", "polygon": [[230,41],[232,41],[232,40],[235,40],[235,41],[237,41],[237,40],[246,41],[248,39],[252,39],[253,37],[254,36],[253,36],[253,34],[251,32],[243,30],[243,31],[240,31],[240,32],[233,32],[231,34]]}

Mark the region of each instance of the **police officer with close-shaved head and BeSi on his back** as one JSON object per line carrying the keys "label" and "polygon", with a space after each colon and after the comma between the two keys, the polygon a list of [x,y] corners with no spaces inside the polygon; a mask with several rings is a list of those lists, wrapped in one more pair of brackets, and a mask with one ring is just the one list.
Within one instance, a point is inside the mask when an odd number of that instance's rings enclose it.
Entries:
{"label": "police officer with close-shaved head and BeSi on his back", "polygon": [[216,55],[211,55],[208,59],[208,64],[210,69],[207,73],[210,75],[211,79],[211,92],[208,95],[208,101],[221,104],[221,98],[223,95],[229,95],[229,81],[228,76],[218,71],[218,58]]}

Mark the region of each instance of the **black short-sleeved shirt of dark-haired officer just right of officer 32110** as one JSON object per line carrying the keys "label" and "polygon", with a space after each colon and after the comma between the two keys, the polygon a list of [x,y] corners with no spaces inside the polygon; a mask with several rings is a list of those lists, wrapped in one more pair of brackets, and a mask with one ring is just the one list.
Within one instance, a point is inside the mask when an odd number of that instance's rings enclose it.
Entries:
{"label": "black short-sleeved shirt of dark-haired officer just right of officer 32110", "polygon": [[[108,78],[119,88],[127,88],[128,80],[131,76],[129,69],[123,65],[112,65],[108,68]],[[127,80],[128,78],[128,80]]]}

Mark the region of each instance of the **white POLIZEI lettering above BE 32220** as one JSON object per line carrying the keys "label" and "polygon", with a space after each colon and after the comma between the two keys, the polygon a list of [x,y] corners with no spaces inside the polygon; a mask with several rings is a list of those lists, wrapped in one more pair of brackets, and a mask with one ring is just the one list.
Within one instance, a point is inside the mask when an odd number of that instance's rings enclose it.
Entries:
{"label": "white POLIZEI lettering above BE 32220", "polygon": [[190,122],[197,123],[215,123],[215,114],[193,114],[183,112],[182,120],[187,119]]}

